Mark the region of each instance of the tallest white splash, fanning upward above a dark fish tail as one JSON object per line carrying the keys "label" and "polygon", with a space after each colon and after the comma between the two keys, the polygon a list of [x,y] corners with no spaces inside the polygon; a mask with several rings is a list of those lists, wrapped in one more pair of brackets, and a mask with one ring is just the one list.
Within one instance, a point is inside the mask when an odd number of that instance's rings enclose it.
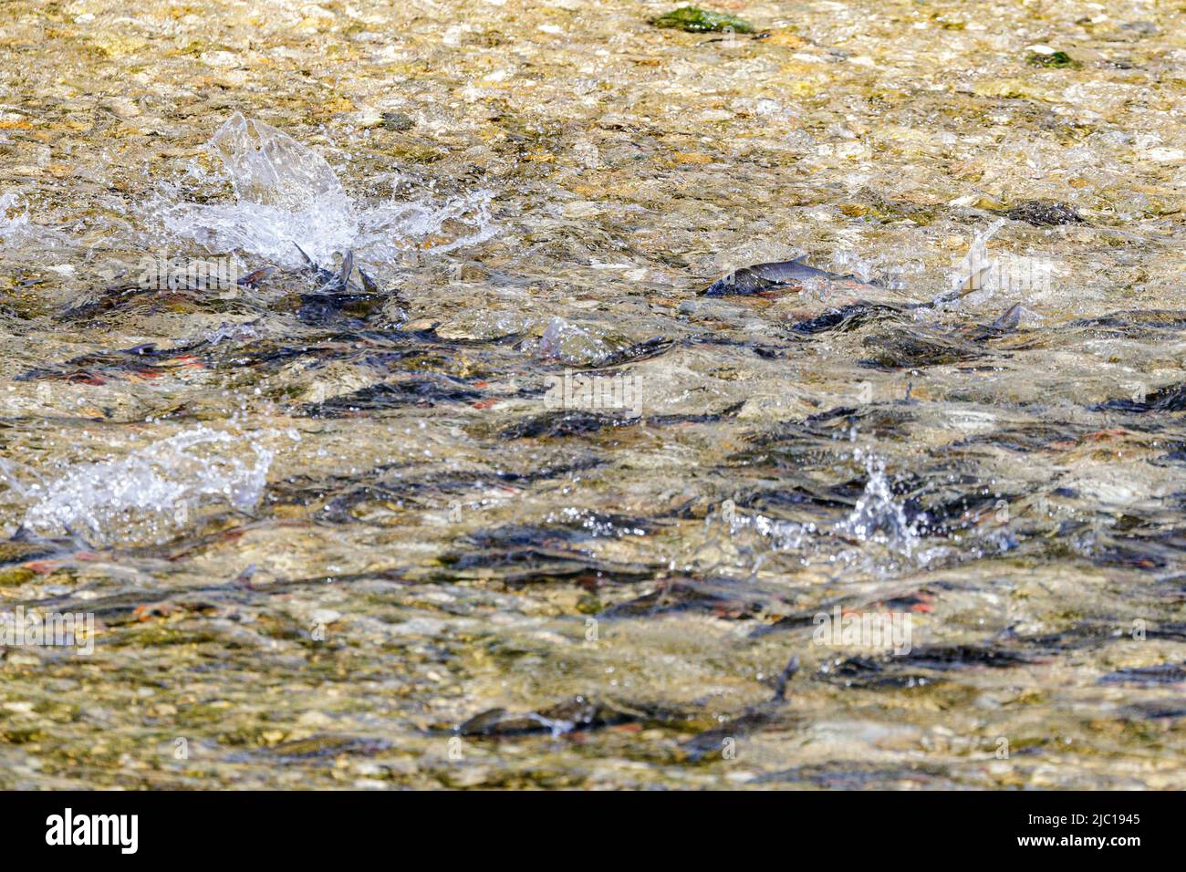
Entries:
{"label": "tallest white splash, fanning upward above a dark fish tail", "polygon": [[493,235],[489,191],[445,203],[391,201],[356,209],[321,155],[238,113],[209,147],[222,159],[236,202],[167,205],[162,219],[168,233],[210,250],[242,250],[299,266],[295,243],[319,262],[350,248],[372,262],[394,262],[425,237],[436,244],[420,250],[442,253]]}

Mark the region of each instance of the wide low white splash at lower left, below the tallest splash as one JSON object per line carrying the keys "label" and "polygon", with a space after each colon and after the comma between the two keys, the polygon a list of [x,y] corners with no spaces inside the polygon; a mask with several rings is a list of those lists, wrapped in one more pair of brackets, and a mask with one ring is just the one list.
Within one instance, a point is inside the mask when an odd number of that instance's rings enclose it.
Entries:
{"label": "wide low white splash at lower left, below the tallest splash", "polygon": [[[206,504],[240,510],[256,505],[273,452],[255,441],[208,427],[183,431],[120,459],[71,466],[56,480],[24,488],[33,502],[23,526],[30,533],[78,533],[95,542],[134,537],[157,542]],[[221,450],[221,451],[219,451]]]}

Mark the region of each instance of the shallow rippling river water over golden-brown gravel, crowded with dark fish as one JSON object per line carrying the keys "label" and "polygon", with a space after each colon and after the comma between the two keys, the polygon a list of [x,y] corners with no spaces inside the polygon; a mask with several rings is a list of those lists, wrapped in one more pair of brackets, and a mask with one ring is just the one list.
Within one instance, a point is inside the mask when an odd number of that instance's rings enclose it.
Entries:
{"label": "shallow rippling river water over golden-brown gravel, crowded with dark fish", "polygon": [[0,4],[0,787],[1186,787],[1182,12],[671,8]]}

